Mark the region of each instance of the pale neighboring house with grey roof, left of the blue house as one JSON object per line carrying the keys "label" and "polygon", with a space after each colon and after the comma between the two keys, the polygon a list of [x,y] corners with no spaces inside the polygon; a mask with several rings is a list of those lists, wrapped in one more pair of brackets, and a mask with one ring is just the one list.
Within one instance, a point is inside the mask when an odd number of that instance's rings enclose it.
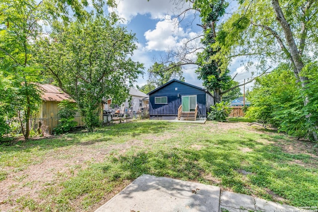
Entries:
{"label": "pale neighboring house with grey roof, left of the blue house", "polygon": [[146,93],[131,87],[129,96],[130,97],[120,106],[112,106],[111,99],[107,99],[104,104],[104,110],[118,109],[120,110],[120,113],[149,110],[149,96]]}

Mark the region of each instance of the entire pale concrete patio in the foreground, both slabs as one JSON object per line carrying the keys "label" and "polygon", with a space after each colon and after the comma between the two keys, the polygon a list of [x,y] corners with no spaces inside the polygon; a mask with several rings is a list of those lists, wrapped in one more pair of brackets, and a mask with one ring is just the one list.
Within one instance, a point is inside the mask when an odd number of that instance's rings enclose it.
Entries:
{"label": "entire pale concrete patio in the foreground, both slabs", "polygon": [[95,212],[301,212],[219,187],[142,175]]}

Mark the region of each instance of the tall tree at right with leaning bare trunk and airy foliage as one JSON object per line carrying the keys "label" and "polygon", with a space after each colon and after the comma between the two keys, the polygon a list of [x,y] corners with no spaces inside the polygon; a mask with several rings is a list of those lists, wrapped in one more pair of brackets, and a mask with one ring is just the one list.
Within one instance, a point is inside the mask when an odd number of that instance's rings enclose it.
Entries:
{"label": "tall tree at right with leaning bare trunk and airy foliage", "polygon": [[[235,56],[258,59],[260,71],[266,64],[289,64],[303,90],[303,105],[310,103],[307,92],[311,78],[303,75],[304,67],[316,60],[318,53],[317,0],[242,0],[239,9],[222,25],[217,58],[228,63]],[[226,62],[228,61],[228,62]],[[311,121],[312,114],[306,117]],[[317,140],[317,135],[313,131]]]}

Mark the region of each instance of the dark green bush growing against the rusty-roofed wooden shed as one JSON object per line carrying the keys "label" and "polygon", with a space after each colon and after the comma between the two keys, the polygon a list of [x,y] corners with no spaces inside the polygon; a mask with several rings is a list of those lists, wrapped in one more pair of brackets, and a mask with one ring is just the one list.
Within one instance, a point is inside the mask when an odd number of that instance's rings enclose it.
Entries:
{"label": "dark green bush growing against the rusty-roofed wooden shed", "polygon": [[60,108],[60,124],[58,127],[54,128],[55,133],[62,134],[74,130],[78,124],[76,121],[74,121],[74,116],[77,112],[76,104],[70,102],[69,100],[63,100],[58,104],[58,107]]}

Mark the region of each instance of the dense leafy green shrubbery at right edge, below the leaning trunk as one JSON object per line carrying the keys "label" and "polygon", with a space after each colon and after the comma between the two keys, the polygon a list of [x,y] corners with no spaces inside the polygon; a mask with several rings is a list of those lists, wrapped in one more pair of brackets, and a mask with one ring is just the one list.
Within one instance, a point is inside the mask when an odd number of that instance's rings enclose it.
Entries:
{"label": "dense leafy green shrubbery at right edge, below the leaning trunk", "polygon": [[[310,67],[310,78],[317,77],[317,65]],[[313,71],[315,70],[315,71]],[[277,83],[279,81],[279,83]],[[263,123],[272,124],[280,131],[286,132],[298,138],[312,138],[311,132],[316,132],[317,123],[317,78],[312,80],[306,91],[311,91],[309,103],[304,106],[303,90],[297,89],[297,82],[293,71],[288,64],[281,64],[271,73],[258,78],[253,90],[249,92],[248,98],[252,106],[248,109],[246,116],[259,120]],[[306,116],[312,114],[311,122]]]}

